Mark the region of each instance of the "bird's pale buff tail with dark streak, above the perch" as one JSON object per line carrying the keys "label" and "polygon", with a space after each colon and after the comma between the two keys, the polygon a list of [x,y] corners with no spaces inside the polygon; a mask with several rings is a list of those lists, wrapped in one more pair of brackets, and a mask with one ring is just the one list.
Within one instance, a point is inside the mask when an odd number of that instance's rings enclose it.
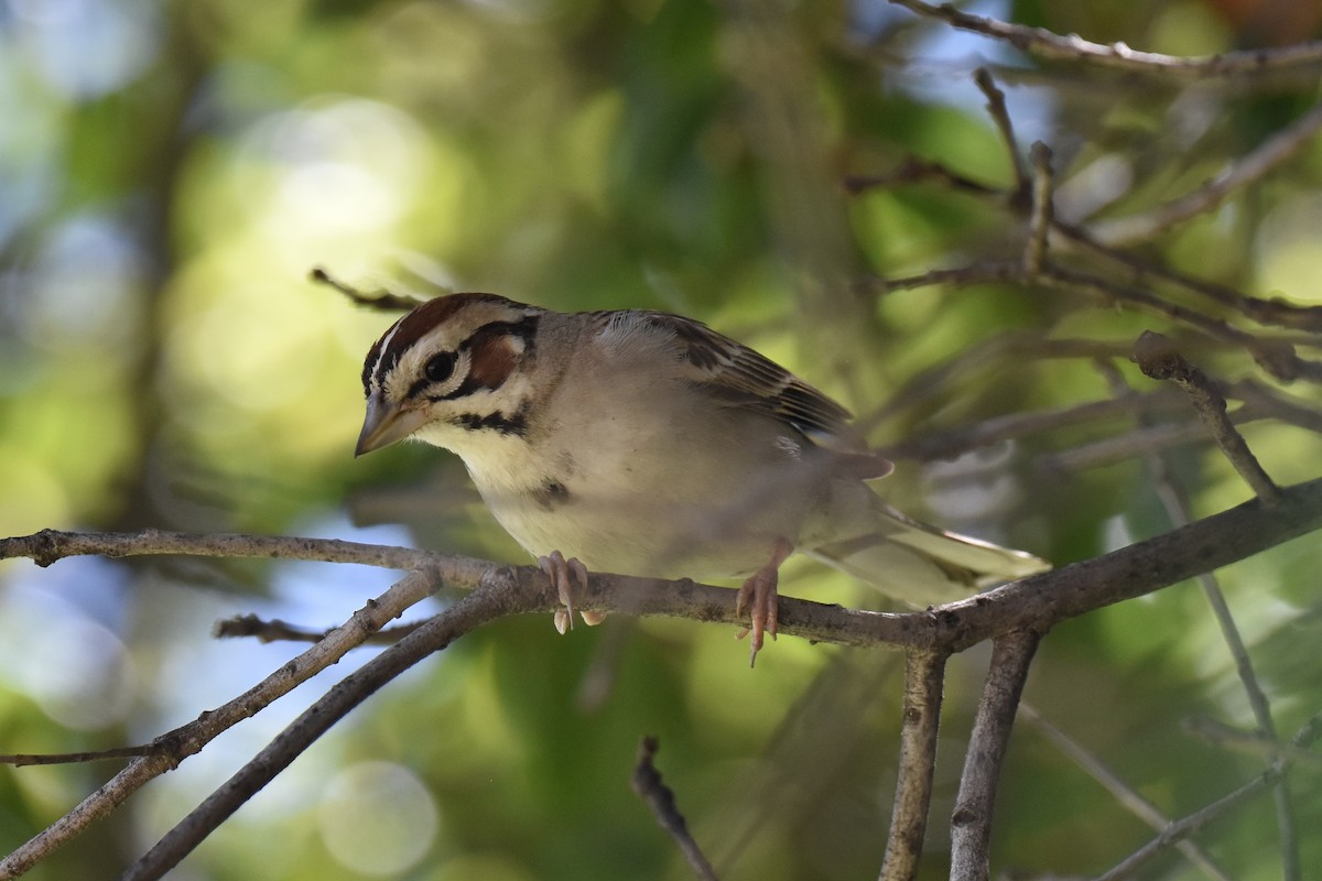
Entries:
{"label": "bird's pale buff tail with dark streak, above the perch", "polygon": [[808,552],[914,606],[961,600],[970,593],[1051,568],[1046,560],[928,526],[879,505],[879,528]]}

